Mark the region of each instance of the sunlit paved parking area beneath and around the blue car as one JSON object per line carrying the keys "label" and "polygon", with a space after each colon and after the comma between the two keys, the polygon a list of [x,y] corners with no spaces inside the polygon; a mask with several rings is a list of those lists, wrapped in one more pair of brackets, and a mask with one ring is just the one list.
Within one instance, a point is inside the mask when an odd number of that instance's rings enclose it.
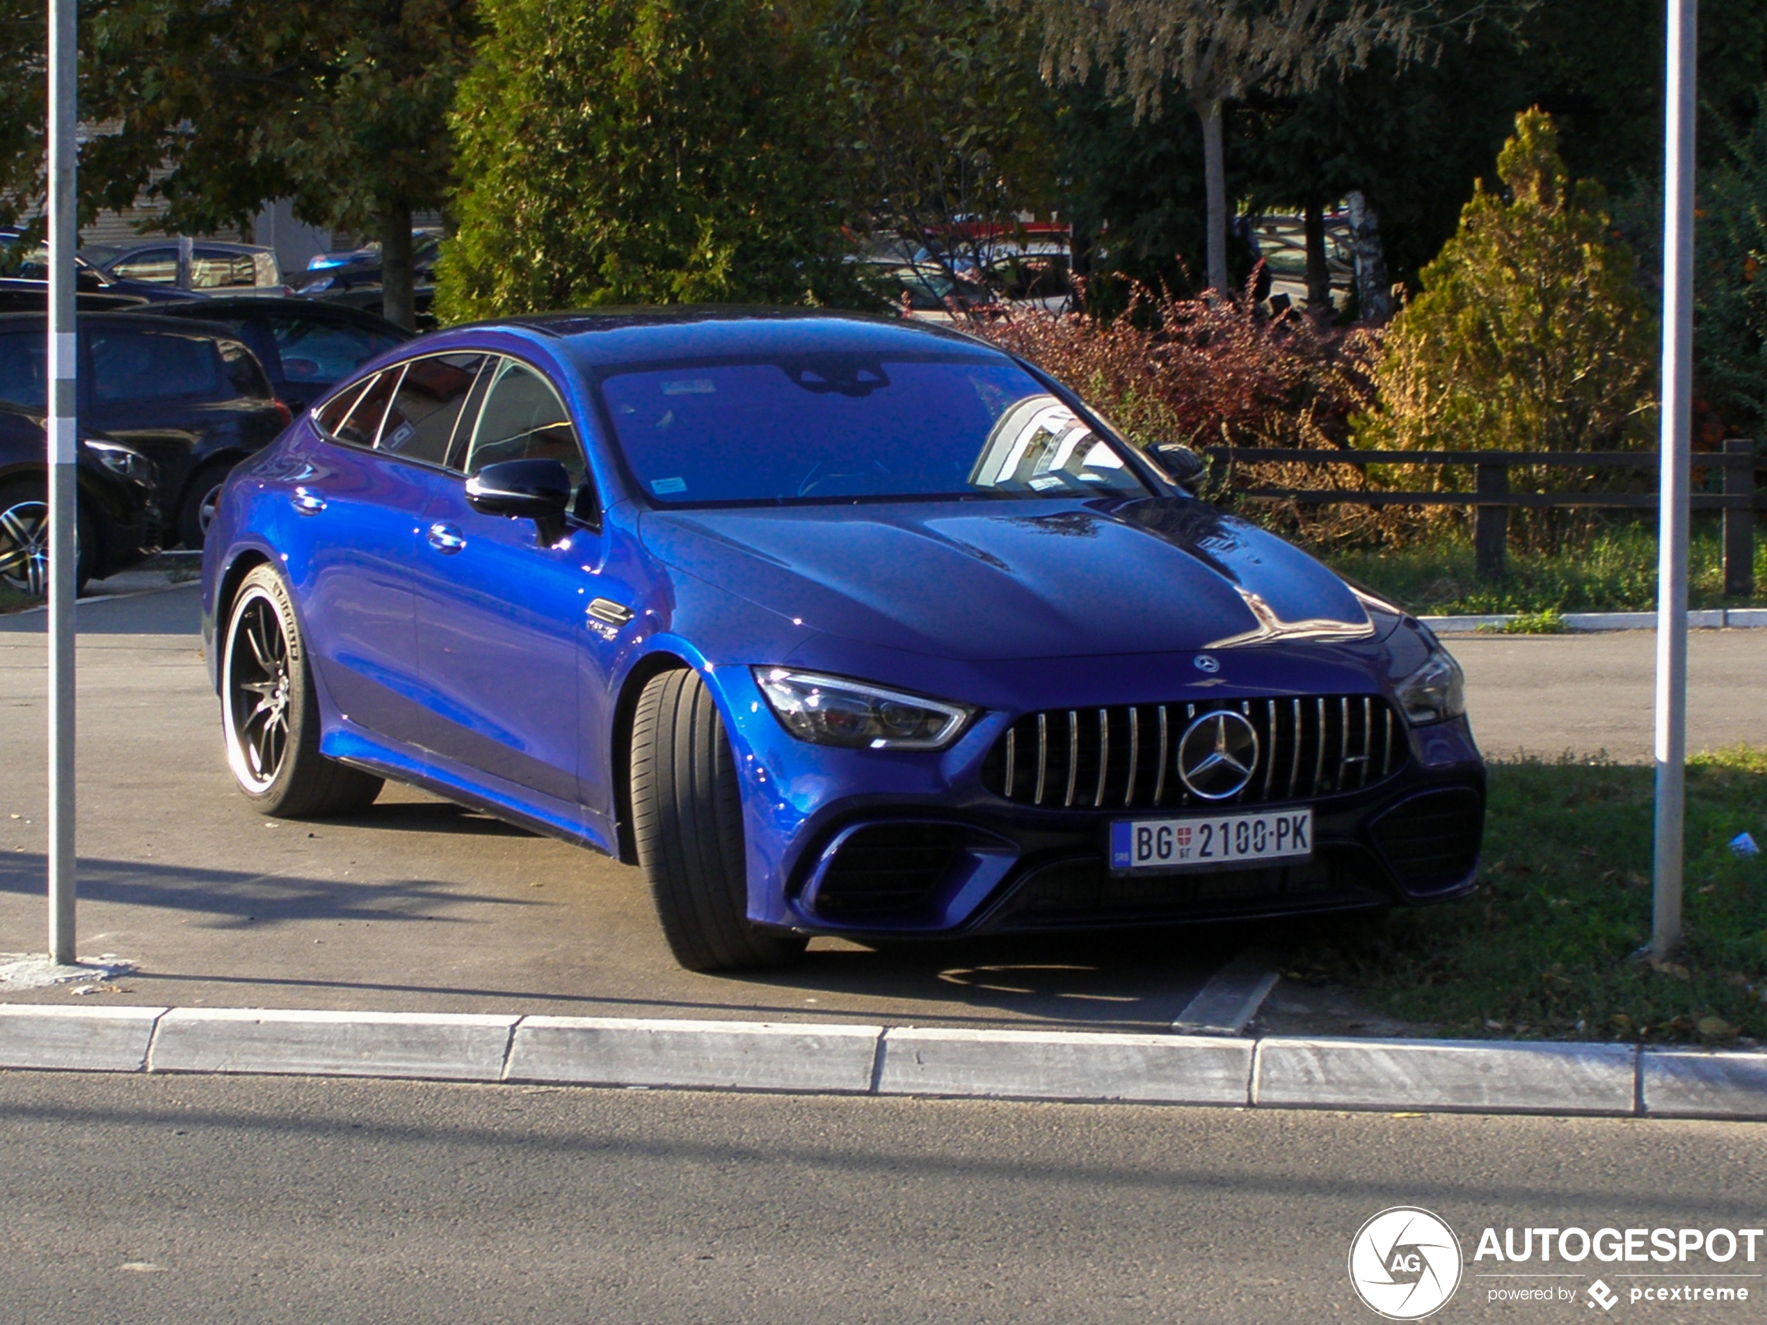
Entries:
{"label": "sunlit paved parking area beneath and around the blue car", "polygon": [[[80,627],[80,952],[141,965],[95,998],[1163,1030],[1256,936],[816,940],[792,972],[693,975],[638,871],[590,852],[396,786],[350,822],[253,813],[221,760],[194,587],[88,602]],[[1493,756],[1649,758],[1650,636],[1454,650]],[[44,682],[42,615],[0,618],[0,952],[44,945]],[[1767,631],[1696,632],[1691,694],[1693,747],[1767,744]]]}

